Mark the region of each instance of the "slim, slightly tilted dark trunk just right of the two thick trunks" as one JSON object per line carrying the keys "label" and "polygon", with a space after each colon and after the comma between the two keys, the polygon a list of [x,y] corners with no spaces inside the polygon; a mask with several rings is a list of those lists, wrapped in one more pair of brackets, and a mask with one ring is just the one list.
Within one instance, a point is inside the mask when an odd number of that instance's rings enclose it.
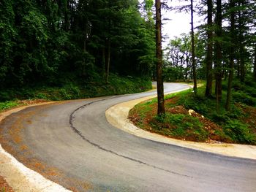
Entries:
{"label": "slim, slightly tilted dark trunk just right of the two thick trunks", "polygon": [[231,41],[230,41],[230,66],[229,66],[229,75],[228,75],[228,85],[227,85],[227,100],[226,100],[226,110],[230,110],[230,100],[231,100],[231,88],[232,88],[232,81],[233,81],[233,69],[234,69],[234,45],[233,42],[235,41],[235,1],[230,0],[230,34],[231,34]]}

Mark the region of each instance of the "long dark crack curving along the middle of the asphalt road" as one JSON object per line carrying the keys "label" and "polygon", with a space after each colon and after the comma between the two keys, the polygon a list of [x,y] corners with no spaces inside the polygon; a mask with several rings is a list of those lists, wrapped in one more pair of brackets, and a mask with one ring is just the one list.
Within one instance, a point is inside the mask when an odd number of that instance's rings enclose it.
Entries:
{"label": "long dark crack curving along the middle of the asphalt road", "polygon": [[[108,98],[108,99],[113,99],[113,98],[115,98],[115,97],[111,97],[111,98]],[[69,125],[70,125],[70,127],[72,128],[72,130],[73,130],[76,134],[78,134],[84,141],[89,142],[89,144],[93,145],[94,147],[99,148],[99,150],[103,150],[103,151],[105,151],[105,152],[112,153],[113,155],[117,155],[117,156],[119,156],[119,157],[121,157],[121,158],[126,158],[126,159],[128,159],[128,160],[130,160],[130,161],[134,161],[134,162],[137,162],[137,163],[139,163],[139,164],[143,164],[143,165],[146,165],[146,166],[150,166],[150,167],[153,167],[154,169],[159,169],[159,170],[164,171],[164,172],[168,172],[168,173],[171,173],[171,174],[177,174],[177,175],[183,176],[183,177],[190,177],[190,178],[193,178],[192,176],[189,176],[189,175],[187,175],[187,174],[179,174],[179,173],[177,173],[177,172],[172,172],[172,171],[170,171],[170,170],[163,169],[163,168],[161,168],[161,167],[159,167],[159,166],[154,166],[154,165],[151,165],[151,164],[147,164],[147,163],[145,163],[145,162],[143,162],[143,161],[140,161],[140,160],[138,160],[138,159],[130,158],[130,157],[125,156],[125,155],[121,155],[121,154],[119,154],[119,153],[114,152],[113,150],[108,150],[108,149],[106,149],[106,148],[104,148],[104,147],[102,147],[102,146],[100,146],[100,145],[98,145],[98,144],[96,144],[96,143],[94,143],[94,142],[91,142],[89,139],[87,139],[86,137],[84,137],[83,134],[78,130],[78,128],[75,128],[75,126],[74,126],[74,124],[73,124],[73,121],[74,121],[74,119],[75,119],[75,112],[78,112],[78,110],[81,110],[81,109],[83,109],[83,108],[89,106],[90,104],[94,104],[94,103],[97,103],[97,102],[99,102],[99,101],[105,101],[105,100],[108,100],[108,99],[100,99],[100,100],[97,100],[97,101],[91,101],[90,103],[84,104],[84,105],[78,107],[77,109],[75,109],[75,110],[69,115]]]}

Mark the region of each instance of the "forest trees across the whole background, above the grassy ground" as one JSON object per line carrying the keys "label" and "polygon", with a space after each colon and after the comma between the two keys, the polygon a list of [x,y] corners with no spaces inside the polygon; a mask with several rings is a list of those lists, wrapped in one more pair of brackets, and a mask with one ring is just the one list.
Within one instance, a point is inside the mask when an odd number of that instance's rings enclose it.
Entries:
{"label": "forest trees across the whole background, above the grassy ground", "polygon": [[[162,1],[162,9],[189,12],[191,2],[167,7]],[[164,50],[164,80],[196,76],[207,80],[208,96],[214,79],[220,96],[222,78],[232,82],[230,74],[241,82],[249,76],[255,81],[254,1],[195,2],[192,13],[205,18],[196,26],[195,54],[191,33],[171,39]],[[153,0],[3,0],[0,5],[1,90],[108,83],[110,74],[156,78]]]}

